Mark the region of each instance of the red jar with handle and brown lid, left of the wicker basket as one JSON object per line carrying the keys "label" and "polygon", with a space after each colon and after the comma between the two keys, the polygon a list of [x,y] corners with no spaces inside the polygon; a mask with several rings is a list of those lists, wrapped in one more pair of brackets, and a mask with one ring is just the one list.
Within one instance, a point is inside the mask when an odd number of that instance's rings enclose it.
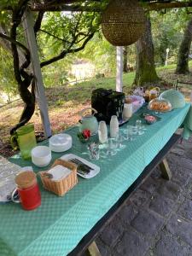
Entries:
{"label": "red jar with handle and brown lid, left of the wicker basket", "polygon": [[[34,210],[41,205],[41,195],[38,189],[38,181],[34,172],[20,172],[15,177],[17,188],[12,194],[12,201],[20,202],[26,211]],[[14,199],[18,191],[20,200]]]}

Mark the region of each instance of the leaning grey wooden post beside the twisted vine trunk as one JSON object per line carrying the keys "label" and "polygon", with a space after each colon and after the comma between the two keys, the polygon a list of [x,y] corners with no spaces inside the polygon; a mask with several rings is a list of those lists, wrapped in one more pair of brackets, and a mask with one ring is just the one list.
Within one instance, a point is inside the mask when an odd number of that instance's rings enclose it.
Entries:
{"label": "leaning grey wooden post beside the twisted vine trunk", "polygon": [[26,34],[26,42],[28,44],[28,48],[30,49],[31,58],[32,58],[32,70],[37,79],[36,83],[36,98],[38,100],[38,106],[40,108],[41,119],[44,125],[44,135],[45,137],[51,136],[50,122],[49,122],[49,114],[46,96],[44,93],[44,82],[41,73],[41,67],[38,57],[38,46],[36,43],[35,33],[33,29],[34,20],[32,17],[32,12],[30,10],[26,10],[24,14],[22,25],[25,29]]}

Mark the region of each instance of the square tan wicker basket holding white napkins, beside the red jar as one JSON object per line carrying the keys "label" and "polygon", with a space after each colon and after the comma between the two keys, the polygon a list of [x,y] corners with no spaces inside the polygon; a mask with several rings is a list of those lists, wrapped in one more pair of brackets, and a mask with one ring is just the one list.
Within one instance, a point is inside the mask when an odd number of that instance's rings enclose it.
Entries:
{"label": "square tan wicker basket holding white napkins, beside the red jar", "polygon": [[65,160],[55,160],[55,163],[53,164],[53,166],[51,166],[51,168],[58,165],[67,167],[73,172],[71,172],[67,177],[58,181],[51,180],[51,178],[49,178],[46,175],[47,171],[40,172],[39,174],[40,174],[42,183],[44,185],[44,189],[47,189],[55,193],[56,195],[62,196],[62,195],[65,195],[68,190],[72,189],[74,185],[78,183],[77,166]]}

